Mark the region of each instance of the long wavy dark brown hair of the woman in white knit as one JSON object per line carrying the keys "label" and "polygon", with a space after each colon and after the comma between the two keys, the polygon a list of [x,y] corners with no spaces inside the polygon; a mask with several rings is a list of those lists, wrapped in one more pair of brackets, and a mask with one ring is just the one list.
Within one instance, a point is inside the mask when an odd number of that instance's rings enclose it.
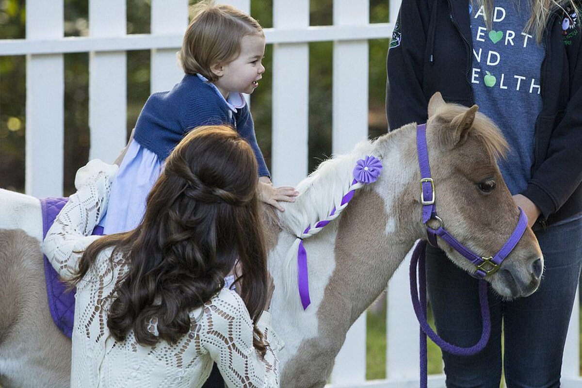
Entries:
{"label": "long wavy dark brown hair of the woman in white knit", "polygon": [[[133,330],[142,345],[175,343],[190,331],[190,311],[221,291],[239,259],[241,297],[255,323],[254,346],[264,354],[256,323],[265,306],[267,254],[257,182],[253,150],[236,131],[204,126],[184,137],[166,159],[140,225],[89,245],[73,279],[80,282],[107,247],[115,247],[111,261],[123,255],[128,270],[115,286],[107,320],[116,340]],[[158,336],[147,329],[152,318]]]}

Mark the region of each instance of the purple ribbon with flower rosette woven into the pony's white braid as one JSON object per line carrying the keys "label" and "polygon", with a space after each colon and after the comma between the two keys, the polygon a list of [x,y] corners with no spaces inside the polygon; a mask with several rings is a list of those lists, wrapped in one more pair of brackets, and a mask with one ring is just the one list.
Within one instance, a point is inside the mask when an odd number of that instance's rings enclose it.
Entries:
{"label": "purple ribbon with flower rosette woven into the pony's white braid", "polygon": [[374,183],[380,176],[381,172],[382,162],[374,156],[366,156],[365,159],[357,161],[353,172],[354,180],[350,185],[352,190],[348,191],[347,194],[343,196],[339,210],[333,207],[327,219],[317,222],[313,228],[311,228],[311,225],[307,226],[301,236],[297,236],[297,239],[300,240],[299,247],[297,248],[297,282],[299,284],[299,296],[301,298],[303,309],[307,309],[311,304],[307,273],[307,251],[303,245],[303,239],[313,236],[313,234],[319,232],[325,225],[332,222],[332,220],[337,216],[336,212],[339,213],[342,211],[347,206],[347,203],[352,200],[354,193],[356,193],[356,189],[361,187],[362,184]]}

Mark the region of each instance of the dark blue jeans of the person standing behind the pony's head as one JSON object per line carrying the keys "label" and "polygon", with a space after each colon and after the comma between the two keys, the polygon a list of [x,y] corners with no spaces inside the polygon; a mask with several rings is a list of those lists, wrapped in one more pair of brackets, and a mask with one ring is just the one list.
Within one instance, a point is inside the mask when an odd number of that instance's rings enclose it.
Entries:
{"label": "dark blue jeans of the person standing behind the pony's head", "polygon": [[[447,387],[499,388],[502,321],[506,385],[560,386],[562,354],[582,264],[582,218],[546,230],[534,228],[534,232],[544,254],[540,287],[531,296],[513,301],[503,301],[489,287],[489,343],[470,357],[443,352]],[[459,346],[477,343],[482,329],[478,281],[428,245],[427,282],[439,335]]]}

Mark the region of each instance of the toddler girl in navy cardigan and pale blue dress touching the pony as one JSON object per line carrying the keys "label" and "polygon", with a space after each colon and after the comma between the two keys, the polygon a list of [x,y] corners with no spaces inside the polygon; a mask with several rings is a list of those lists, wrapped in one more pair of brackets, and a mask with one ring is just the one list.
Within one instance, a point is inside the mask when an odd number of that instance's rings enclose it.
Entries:
{"label": "toddler girl in navy cardigan and pale blue dress touching the pony", "polygon": [[277,201],[294,201],[293,187],[275,188],[254,133],[242,93],[252,93],[265,71],[265,37],[258,22],[228,5],[201,1],[184,34],[179,53],[186,73],[172,90],[154,93],[137,119],[132,138],[113,181],[105,234],[134,229],[143,218],[145,198],[162,163],[195,127],[226,124],[251,145],[258,162],[259,195],[283,211]]}

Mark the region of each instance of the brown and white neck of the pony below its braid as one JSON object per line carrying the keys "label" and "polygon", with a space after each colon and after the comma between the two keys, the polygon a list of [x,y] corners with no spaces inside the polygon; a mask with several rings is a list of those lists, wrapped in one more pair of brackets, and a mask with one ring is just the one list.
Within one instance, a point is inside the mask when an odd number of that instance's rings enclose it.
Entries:
{"label": "brown and white neck of the pony below its braid", "polygon": [[294,281],[297,252],[288,255],[295,238],[279,229],[271,245],[269,269],[276,284],[271,304],[274,325],[286,342],[280,355],[286,365],[284,379],[303,374],[296,372],[304,368],[324,373],[331,368],[349,327],[385,289],[421,236],[414,128],[406,126],[375,141],[371,152],[382,158],[381,177],[361,188],[339,219],[304,241],[311,294],[306,311]]}

